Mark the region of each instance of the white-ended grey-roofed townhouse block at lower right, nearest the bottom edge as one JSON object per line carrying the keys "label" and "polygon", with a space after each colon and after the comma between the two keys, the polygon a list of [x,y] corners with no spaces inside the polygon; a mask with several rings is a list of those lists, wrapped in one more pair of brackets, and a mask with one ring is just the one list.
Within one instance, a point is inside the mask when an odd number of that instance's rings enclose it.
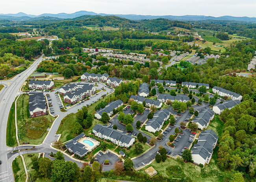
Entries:
{"label": "white-ended grey-roofed townhouse block at lower right, nearest the bottom edge", "polygon": [[197,144],[194,144],[191,148],[192,160],[195,164],[209,164],[218,138],[217,134],[211,129],[201,131]]}

